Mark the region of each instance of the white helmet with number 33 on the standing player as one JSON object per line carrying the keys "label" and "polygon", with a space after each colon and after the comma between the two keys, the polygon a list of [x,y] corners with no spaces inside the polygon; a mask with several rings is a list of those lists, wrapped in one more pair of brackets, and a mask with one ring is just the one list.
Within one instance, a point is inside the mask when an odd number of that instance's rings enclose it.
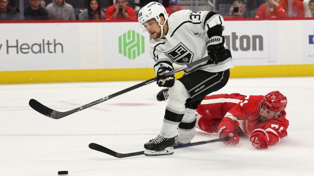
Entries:
{"label": "white helmet with number 33 on the standing player", "polygon": [[[163,25],[160,24],[160,14],[164,15],[165,18],[165,23]],[[161,35],[160,38],[163,36],[163,27],[167,22],[168,17],[168,13],[166,12],[166,9],[164,8],[164,6],[162,6],[160,3],[157,2],[151,2],[149,4],[147,4],[146,6],[144,6],[139,12],[138,12],[138,22],[140,23],[140,27],[142,29],[143,32],[146,31],[145,26],[143,25],[143,23],[145,23],[146,21],[155,18],[156,21],[158,22],[160,28],[161,28]]]}

